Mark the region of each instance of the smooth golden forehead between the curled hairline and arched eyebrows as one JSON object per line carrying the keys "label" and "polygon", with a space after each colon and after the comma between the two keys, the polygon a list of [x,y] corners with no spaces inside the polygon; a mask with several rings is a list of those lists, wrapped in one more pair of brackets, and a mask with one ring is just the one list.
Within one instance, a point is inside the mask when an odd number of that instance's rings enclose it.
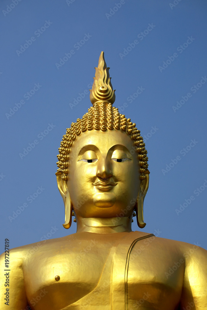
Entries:
{"label": "smooth golden forehead between the curled hairline and arched eyebrows", "polygon": [[101,152],[107,152],[116,144],[124,145],[130,152],[133,147],[133,140],[126,132],[115,129],[107,131],[86,131],[81,133],[74,141],[71,152],[75,155],[87,145],[95,145]]}

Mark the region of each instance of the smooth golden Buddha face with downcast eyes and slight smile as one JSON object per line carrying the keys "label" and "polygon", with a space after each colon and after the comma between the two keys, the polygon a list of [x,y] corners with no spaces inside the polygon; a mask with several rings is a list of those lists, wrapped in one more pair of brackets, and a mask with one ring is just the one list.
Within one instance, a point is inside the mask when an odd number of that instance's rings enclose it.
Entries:
{"label": "smooth golden Buddha face with downcast eyes and slight smile", "polygon": [[75,140],[67,188],[76,217],[131,215],[140,182],[137,152],[124,131],[86,131]]}

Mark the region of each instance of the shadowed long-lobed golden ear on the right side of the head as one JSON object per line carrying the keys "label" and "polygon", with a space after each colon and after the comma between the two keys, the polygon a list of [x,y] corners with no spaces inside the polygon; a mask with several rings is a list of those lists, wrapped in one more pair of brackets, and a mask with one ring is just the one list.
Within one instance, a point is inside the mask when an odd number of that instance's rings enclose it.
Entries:
{"label": "shadowed long-lobed golden ear on the right side of the head", "polygon": [[145,179],[141,181],[140,190],[139,190],[137,202],[135,205],[135,210],[136,210],[136,215],[137,215],[137,225],[139,226],[139,228],[144,228],[146,226],[146,223],[144,223],[144,219],[143,219],[143,204],[144,204],[145,195],[149,187],[150,171],[146,169],[144,174],[145,174]]}

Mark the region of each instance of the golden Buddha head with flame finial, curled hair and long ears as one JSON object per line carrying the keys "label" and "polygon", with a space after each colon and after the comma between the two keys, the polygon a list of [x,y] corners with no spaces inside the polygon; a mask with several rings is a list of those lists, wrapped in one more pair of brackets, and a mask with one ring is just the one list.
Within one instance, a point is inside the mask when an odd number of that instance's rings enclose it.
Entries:
{"label": "golden Buddha head with flame finial, curled hair and long ears", "polygon": [[112,106],[115,91],[101,52],[90,90],[92,107],[72,123],[59,148],[57,184],[65,204],[65,228],[72,215],[79,224],[87,218],[120,218],[145,227],[143,202],[149,185],[147,151],[130,118]]}

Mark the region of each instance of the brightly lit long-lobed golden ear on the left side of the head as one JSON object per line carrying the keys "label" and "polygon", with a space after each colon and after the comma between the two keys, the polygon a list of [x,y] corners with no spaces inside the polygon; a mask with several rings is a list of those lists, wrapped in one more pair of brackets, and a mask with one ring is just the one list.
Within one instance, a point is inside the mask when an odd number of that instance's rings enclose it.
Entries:
{"label": "brightly lit long-lobed golden ear on the left side of the head", "polygon": [[67,188],[67,183],[65,180],[62,179],[64,176],[62,170],[58,170],[56,172],[57,177],[57,187],[59,189],[59,192],[62,196],[64,205],[65,205],[65,224],[63,224],[63,227],[68,229],[71,226],[72,223],[72,211],[73,206],[70,200],[70,194]]}

